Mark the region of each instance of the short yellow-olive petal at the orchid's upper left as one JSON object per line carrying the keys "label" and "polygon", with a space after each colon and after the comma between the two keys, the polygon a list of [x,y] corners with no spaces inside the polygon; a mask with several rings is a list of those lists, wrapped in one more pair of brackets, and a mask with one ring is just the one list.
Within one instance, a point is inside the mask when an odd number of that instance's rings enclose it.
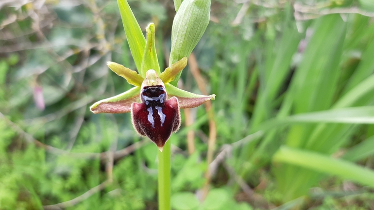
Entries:
{"label": "short yellow-olive petal at the orchid's upper left", "polygon": [[127,82],[129,82],[129,84],[140,87],[141,83],[144,80],[144,78],[140,76],[136,71],[133,71],[130,68],[126,68],[123,65],[109,61],[108,66],[112,71],[114,71],[114,73],[125,78]]}

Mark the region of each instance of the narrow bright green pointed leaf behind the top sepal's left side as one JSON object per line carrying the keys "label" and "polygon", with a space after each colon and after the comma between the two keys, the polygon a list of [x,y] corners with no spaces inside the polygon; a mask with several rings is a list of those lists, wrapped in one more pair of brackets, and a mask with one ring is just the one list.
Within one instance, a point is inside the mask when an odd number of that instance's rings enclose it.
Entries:
{"label": "narrow bright green pointed leaf behind the top sepal's left side", "polygon": [[125,29],[127,42],[129,43],[136,68],[138,71],[140,71],[145,48],[145,38],[127,0],[117,0],[117,2],[122,18],[123,28]]}

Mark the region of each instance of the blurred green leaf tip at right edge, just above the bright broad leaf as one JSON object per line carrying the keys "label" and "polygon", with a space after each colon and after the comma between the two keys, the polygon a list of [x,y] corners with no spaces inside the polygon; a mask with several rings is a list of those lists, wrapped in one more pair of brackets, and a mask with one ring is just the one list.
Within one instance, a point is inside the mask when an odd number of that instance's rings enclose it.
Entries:
{"label": "blurred green leaf tip at right edge, just above the bright broad leaf", "polygon": [[374,154],[374,136],[360,142],[358,145],[348,149],[343,159],[348,161],[359,161]]}

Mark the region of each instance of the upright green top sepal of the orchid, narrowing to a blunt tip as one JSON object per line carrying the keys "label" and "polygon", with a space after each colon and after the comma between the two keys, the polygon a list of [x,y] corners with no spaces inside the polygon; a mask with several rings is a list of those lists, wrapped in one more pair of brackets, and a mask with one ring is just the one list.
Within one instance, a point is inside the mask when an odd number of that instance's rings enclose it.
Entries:
{"label": "upright green top sepal of the orchid, narrowing to a blunt tip", "polygon": [[160,75],[160,65],[158,65],[157,54],[156,54],[156,46],[154,44],[154,24],[150,23],[147,28],[147,41],[145,44],[144,54],[143,54],[143,61],[141,63],[141,71],[140,75],[145,77],[146,72],[149,69],[154,69],[157,75]]}

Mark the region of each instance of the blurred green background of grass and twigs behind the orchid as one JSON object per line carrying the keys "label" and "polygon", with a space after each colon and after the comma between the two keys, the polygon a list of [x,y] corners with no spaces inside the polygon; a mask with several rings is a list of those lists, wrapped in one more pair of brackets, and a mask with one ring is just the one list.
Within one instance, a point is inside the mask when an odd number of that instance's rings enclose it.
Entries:
{"label": "blurred green background of grass and twigs behind the orchid", "polygon": [[[172,0],[129,4],[165,69]],[[216,100],[170,138],[172,208],[374,209],[373,16],[372,0],[212,0],[181,85]],[[131,87],[107,61],[136,70],[116,0],[0,2],[1,210],[157,209],[157,147],[130,113],[89,112]]]}

